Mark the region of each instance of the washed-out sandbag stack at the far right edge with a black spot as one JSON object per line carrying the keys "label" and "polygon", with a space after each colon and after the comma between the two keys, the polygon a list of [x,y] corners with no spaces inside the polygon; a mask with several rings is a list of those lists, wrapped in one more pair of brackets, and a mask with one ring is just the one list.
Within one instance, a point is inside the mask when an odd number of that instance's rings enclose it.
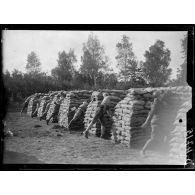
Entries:
{"label": "washed-out sandbag stack at the far right edge with a black spot", "polygon": [[178,87],[177,93],[182,99],[182,104],[175,117],[174,128],[171,131],[170,139],[170,163],[186,163],[186,136],[187,136],[187,112],[192,108],[191,88]]}

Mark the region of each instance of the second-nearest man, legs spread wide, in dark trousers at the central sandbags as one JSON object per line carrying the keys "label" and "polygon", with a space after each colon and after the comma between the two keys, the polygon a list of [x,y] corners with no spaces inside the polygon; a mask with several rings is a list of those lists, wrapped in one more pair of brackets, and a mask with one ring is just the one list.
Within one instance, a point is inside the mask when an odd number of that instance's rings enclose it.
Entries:
{"label": "second-nearest man, legs spread wide, in dark trousers at the central sandbags", "polygon": [[105,135],[105,114],[108,114],[111,117],[110,113],[110,96],[107,93],[103,93],[103,101],[101,102],[100,106],[97,108],[94,118],[92,119],[91,123],[87,127],[87,129],[83,132],[85,138],[88,138],[88,133],[91,127],[97,122],[97,120],[101,123],[101,138]]}

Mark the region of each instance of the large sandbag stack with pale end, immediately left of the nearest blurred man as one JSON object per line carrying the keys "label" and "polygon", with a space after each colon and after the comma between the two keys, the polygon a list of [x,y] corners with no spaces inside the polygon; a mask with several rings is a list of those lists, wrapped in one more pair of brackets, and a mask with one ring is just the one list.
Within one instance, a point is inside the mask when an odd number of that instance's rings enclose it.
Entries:
{"label": "large sandbag stack with pale end, immediately left of the nearest blurred man", "polygon": [[130,89],[127,96],[120,101],[113,116],[112,139],[131,147],[141,147],[150,137],[151,128],[143,130],[153,101],[153,90]]}

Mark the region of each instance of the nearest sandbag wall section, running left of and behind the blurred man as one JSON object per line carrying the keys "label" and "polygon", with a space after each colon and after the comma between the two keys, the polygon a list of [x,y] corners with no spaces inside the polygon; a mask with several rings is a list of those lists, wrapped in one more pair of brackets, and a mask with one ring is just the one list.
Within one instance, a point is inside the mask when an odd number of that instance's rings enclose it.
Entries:
{"label": "nearest sandbag wall section, running left of and behind the blurred man", "polygon": [[185,95],[189,91],[188,87],[131,89],[125,99],[119,102],[115,108],[112,139],[115,138],[116,141],[132,148],[144,146],[151,136],[151,126],[146,129],[142,129],[140,126],[148,116],[154,100],[153,92],[156,90],[167,94],[164,116],[167,118],[166,125],[169,131],[174,129],[177,112],[186,97],[190,97],[189,94]]}

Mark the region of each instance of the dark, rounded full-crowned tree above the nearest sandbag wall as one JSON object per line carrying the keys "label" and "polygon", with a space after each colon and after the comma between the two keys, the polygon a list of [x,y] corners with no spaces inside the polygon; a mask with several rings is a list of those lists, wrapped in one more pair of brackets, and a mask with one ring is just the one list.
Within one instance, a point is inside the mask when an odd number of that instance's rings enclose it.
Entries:
{"label": "dark, rounded full-crowned tree above the nearest sandbag wall", "polygon": [[168,68],[171,61],[171,52],[165,48],[165,43],[157,40],[154,45],[146,51],[145,62],[142,64],[143,76],[152,87],[163,86],[171,75]]}

